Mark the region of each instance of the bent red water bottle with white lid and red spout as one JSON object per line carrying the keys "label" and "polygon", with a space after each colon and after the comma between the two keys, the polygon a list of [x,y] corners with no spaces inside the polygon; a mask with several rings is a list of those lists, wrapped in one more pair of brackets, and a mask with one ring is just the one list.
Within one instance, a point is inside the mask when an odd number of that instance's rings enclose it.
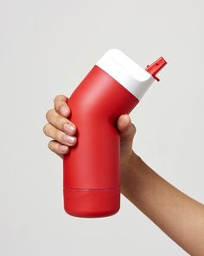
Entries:
{"label": "bent red water bottle with white lid and red spout", "polygon": [[116,122],[129,114],[166,64],[141,68],[118,49],[99,59],[67,104],[77,143],[64,154],[64,208],[78,217],[105,217],[120,207],[120,137]]}

